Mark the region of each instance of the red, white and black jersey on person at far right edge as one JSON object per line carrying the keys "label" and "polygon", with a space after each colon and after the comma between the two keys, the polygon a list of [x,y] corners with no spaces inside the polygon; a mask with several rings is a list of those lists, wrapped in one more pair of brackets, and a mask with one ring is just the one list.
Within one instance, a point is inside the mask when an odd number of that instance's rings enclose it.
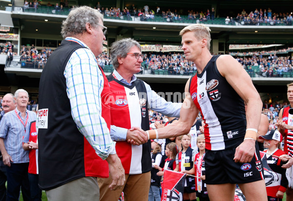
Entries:
{"label": "red, white and black jersey on person at far right edge", "polygon": [[[289,112],[290,111],[290,112]],[[286,107],[283,109],[282,120],[285,124],[293,126],[293,108]],[[293,130],[285,129],[284,132],[284,152],[293,156]]]}

